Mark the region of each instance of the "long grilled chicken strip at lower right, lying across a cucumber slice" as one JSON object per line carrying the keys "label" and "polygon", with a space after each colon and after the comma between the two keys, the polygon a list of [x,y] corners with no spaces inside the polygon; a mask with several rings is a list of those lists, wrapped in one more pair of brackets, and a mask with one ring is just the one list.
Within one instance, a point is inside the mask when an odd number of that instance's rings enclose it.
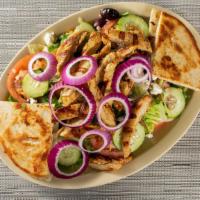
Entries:
{"label": "long grilled chicken strip at lower right, lying across a cucumber slice", "polygon": [[133,137],[136,129],[136,125],[141,121],[143,115],[148,110],[151,104],[151,96],[144,96],[142,97],[135,105],[133,109],[134,117],[129,119],[128,122],[125,124],[122,132],[122,147],[124,152],[124,157],[127,158],[130,153],[130,141]]}

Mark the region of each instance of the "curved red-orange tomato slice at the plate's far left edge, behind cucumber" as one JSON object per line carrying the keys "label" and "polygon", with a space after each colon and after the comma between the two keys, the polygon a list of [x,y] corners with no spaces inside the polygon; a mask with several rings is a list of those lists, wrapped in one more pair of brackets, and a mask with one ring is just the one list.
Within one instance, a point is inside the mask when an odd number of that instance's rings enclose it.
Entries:
{"label": "curved red-orange tomato slice at the plate's far left edge, behind cucumber", "polygon": [[15,88],[15,77],[19,73],[20,70],[26,70],[28,68],[28,63],[33,55],[26,55],[23,58],[21,58],[14,67],[11,68],[8,74],[6,86],[10,93],[10,95],[18,102],[24,103],[26,102],[26,99],[24,99]]}

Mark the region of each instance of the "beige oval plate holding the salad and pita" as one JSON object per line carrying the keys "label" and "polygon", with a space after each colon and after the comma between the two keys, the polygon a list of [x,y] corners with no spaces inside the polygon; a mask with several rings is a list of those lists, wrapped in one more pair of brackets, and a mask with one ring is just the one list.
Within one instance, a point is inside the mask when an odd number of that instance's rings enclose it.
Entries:
{"label": "beige oval plate holding the salad and pita", "polygon": [[[42,40],[42,37],[46,31],[54,31],[55,33],[62,33],[67,29],[71,29],[77,25],[78,17],[82,17],[86,21],[94,20],[98,17],[99,10],[103,7],[112,7],[120,11],[121,13],[129,11],[130,13],[135,13],[138,15],[150,16],[150,11],[153,7],[156,7],[160,10],[165,10],[171,15],[176,16],[179,18],[192,32],[194,35],[198,45],[200,44],[200,36],[197,31],[182,17],[176,15],[175,13],[166,10],[164,8],[145,4],[145,3],[128,3],[128,2],[121,2],[121,3],[112,3],[112,4],[105,4],[95,6],[89,9],[85,9],[75,14],[72,14],[64,19],[59,20],[55,24],[49,26],[38,35],[36,35],[31,41],[28,43],[37,43]],[[27,43],[27,44],[28,44]],[[4,100],[7,95],[6,89],[6,78],[9,69],[18,61],[21,57],[28,53],[27,44],[17,53],[17,55],[13,58],[13,60],[9,63],[8,67],[5,69],[4,73],[0,79],[0,99]],[[166,153],[183,135],[187,132],[188,128],[194,122],[200,108],[200,93],[194,92],[192,99],[188,103],[184,113],[181,117],[176,120],[170,127],[166,127],[165,130],[160,132],[158,137],[155,138],[154,145],[149,146],[148,148],[144,149],[140,152],[136,157],[131,161],[129,164],[125,165],[122,169],[116,172],[97,172],[97,171],[89,171],[77,178],[71,180],[62,180],[53,178],[52,181],[46,182],[43,180],[35,179],[31,176],[28,176],[22,170],[17,168],[6,156],[3,151],[0,151],[0,157],[2,161],[7,165],[12,171],[16,174],[20,175],[21,177],[37,183],[39,185],[52,187],[52,188],[62,188],[62,189],[79,189],[79,188],[89,188],[99,185],[104,185],[107,183],[111,183],[121,178],[124,178],[129,175],[133,175],[136,172],[142,170],[144,167],[147,167],[152,162],[160,158],[164,153]]]}

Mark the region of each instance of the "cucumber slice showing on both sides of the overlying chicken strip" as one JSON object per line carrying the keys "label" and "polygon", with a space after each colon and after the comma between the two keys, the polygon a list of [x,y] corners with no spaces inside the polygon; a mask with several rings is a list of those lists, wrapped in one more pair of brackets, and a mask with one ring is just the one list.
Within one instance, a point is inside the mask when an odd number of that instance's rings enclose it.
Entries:
{"label": "cucumber slice showing on both sides of the overlying chicken strip", "polygon": [[[121,134],[122,134],[122,129],[118,129],[117,131],[115,131],[113,135],[113,144],[118,150],[122,149]],[[136,126],[136,132],[131,139],[131,152],[136,151],[143,144],[144,139],[145,139],[145,129],[141,124],[138,124]]]}

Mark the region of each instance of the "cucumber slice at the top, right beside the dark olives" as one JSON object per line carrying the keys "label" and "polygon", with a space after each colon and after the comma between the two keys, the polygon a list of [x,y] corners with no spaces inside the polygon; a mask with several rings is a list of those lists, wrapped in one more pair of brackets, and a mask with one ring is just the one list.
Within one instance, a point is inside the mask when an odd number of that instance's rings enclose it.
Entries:
{"label": "cucumber slice at the top, right beside the dark olives", "polygon": [[128,26],[135,26],[140,29],[147,37],[149,35],[149,26],[147,22],[137,15],[126,15],[121,17],[116,25],[116,28],[120,31],[126,31]]}

